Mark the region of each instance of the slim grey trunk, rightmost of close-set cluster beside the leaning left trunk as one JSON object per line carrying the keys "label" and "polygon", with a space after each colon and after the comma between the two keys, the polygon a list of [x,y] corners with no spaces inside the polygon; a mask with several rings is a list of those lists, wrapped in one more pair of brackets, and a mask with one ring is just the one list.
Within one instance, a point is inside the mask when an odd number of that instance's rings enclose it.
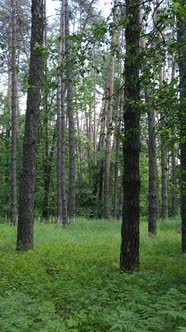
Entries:
{"label": "slim grey trunk, rightmost of close-set cluster beside the leaning left trunk", "polygon": [[67,113],[69,117],[69,218],[76,215],[76,176],[75,176],[75,121],[73,110],[73,84],[72,84],[72,56],[69,31],[68,0],[65,1],[65,52],[66,52],[66,88],[67,88]]}

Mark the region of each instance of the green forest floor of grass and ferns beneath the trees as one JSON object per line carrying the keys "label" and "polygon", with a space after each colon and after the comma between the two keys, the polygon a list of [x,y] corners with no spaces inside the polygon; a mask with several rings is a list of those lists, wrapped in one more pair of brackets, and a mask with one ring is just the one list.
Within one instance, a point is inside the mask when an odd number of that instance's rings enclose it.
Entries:
{"label": "green forest floor of grass and ferns beneath the trees", "polygon": [[15,252],[0,225],[1,332],[186,332],[186,256],[179,220],[141,223],[141,269],[119,271],[120,222],[36,224],[35,250]]}

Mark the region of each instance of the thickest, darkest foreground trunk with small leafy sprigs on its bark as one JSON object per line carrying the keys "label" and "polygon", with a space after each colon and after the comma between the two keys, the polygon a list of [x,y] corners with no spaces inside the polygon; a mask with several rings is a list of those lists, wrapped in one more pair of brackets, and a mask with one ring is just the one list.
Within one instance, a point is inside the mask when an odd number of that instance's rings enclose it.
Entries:
{"label": "thickest, darkest foreground trunk with small leafy sprigs on its bark", "polygon": [[133,272],[139,269],[139,0],[126,1],[126,15],[124,203],[120,268]]}

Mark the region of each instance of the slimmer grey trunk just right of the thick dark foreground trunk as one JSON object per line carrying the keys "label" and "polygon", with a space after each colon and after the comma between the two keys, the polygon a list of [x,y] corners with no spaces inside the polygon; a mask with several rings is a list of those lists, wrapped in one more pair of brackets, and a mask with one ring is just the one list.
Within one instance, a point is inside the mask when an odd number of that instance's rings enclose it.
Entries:
{"label": "slimmer grey trunk just right of the thick dark foreground trunk", "polygon": [[[149,94],[146,91],[146,102]],[[157,183],[157,158],[156,158],[156,134],[155,134],[155,112],[152,108],[148,110],[148,151],[149,151],[149,187],[148,187],[148,232],[156,234],[158,216],[158,183]]]}

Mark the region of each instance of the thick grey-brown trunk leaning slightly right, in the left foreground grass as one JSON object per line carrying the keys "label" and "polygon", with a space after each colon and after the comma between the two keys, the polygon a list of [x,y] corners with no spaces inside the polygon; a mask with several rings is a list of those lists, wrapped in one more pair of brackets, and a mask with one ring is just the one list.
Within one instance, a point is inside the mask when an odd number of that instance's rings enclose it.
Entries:
{"label": "thick grey-brown trunk leaning slightly right, in the left foreground grass", "polygon": [[40,46],[43,45],[43,26],[43,0],[32,0],[31,57],[18,213],[18,250],[33,248],[36,151],[38,145],[40,86],[43,67]]}

